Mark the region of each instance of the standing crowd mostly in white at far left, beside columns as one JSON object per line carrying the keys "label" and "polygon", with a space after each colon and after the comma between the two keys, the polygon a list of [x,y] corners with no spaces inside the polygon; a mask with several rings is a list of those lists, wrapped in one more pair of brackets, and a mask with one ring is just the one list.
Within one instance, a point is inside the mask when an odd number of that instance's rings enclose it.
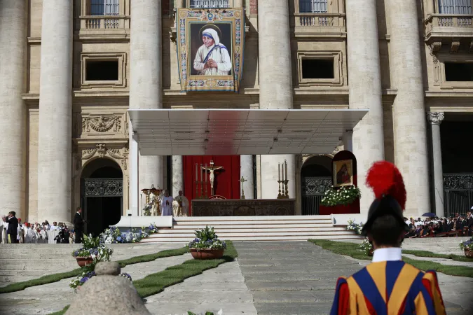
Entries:
{"label": "standing crowd mostly in white at far left, beside columns", "polygon": [[[53,225],[50,225],[48,221],[22,223],[21,218],[16,218],[15,211],[8,213],[8,216],[2,216],[1,219],[1,244],[46,244],[53,242],[69,244],[74,241],[74,232],[70,232],[67,225],[62,222],[53,222]],[[50,237],[53,237],[53,239],[50,239]]]}

